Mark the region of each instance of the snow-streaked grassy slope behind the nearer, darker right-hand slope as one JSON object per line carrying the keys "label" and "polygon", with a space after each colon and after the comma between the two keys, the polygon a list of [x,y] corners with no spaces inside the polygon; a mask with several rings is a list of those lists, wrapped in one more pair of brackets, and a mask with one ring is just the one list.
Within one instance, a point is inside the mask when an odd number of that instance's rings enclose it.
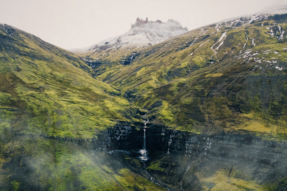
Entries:
{"label": "snow-streaked grassy slope behind the nearer, darker right-hand slope", "polygon": [[[225,43],[216,50],[220,45],[216,42],[225,31],[227,32]],[[195,29],[185,36],[146,49],[129,66],[106,69],[97,75],[98,78],[119,86],[123,91],[133,89],[133,92],[139,92],[151,89],[209,66],[212,62],[220,62],[226,59],[226,56],[236,55],[241,50],[252,48],[252,38],[256,38],[257,45],[277,43],[276,38],[270,37],[266,31],[265,26],[228,28],[221,31],[216,31],[214,27]],[[249,38],[248,42],[246,37]],[[217,53],[211,48],[214,44],[216,45],[213,49]],[[123,75],[127,72],[129,76]]]}

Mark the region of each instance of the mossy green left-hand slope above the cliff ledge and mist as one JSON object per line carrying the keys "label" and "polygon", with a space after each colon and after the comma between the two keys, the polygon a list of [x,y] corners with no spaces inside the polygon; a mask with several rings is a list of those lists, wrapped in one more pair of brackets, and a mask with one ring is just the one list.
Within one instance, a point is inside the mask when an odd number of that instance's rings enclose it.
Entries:
{"label": "mossy green left-hand slope above the cliff ledge and mist", "polygon": [[2,128],[87,139],[117,120],[137,121],[137,109],[122,93],[92,78],[90,68],[75,55],[6,29],[1,27]]}

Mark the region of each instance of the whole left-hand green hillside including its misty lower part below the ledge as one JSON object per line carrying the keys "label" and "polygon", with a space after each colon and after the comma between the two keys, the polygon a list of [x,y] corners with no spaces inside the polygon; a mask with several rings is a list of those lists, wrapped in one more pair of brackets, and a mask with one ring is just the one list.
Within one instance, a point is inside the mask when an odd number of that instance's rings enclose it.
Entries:
{"label": "whole left-hand green hillside including its misty lower part below the ledge", "polygon": [[70,52],[0,25],[0,190],[163,190],[124,154],[44,138],[91,139],[139,120],[121,92],[89,73]]}

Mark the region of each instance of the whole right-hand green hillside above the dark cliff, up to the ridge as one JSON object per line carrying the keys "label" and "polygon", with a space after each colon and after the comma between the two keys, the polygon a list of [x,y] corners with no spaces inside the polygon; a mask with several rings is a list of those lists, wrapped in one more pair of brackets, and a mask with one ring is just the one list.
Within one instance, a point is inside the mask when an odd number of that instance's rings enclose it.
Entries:
{"label": "whole right-hand green hillside above the dark cliff, up to the ridge", "polygon": [[96,76],[151,110],[154,124],[286,136],[285,17],[201,27],[145,49],[129,65],[103,64]]}

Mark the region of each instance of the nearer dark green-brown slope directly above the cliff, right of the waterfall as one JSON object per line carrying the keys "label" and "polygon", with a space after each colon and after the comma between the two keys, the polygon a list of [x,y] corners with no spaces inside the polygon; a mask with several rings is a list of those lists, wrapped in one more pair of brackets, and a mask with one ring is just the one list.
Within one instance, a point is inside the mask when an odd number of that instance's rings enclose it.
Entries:
{"label": "nearer dark green-brown slope directly above the cliff, right of the waterfall", "polygon": [[249,55],[264,57],[260,64],[250,57],[229,58],[150,90],[136,103],[151,109],[157,123],[178,129],[204,131],[204,125],[286,136],[284,48],[255,46]]}

